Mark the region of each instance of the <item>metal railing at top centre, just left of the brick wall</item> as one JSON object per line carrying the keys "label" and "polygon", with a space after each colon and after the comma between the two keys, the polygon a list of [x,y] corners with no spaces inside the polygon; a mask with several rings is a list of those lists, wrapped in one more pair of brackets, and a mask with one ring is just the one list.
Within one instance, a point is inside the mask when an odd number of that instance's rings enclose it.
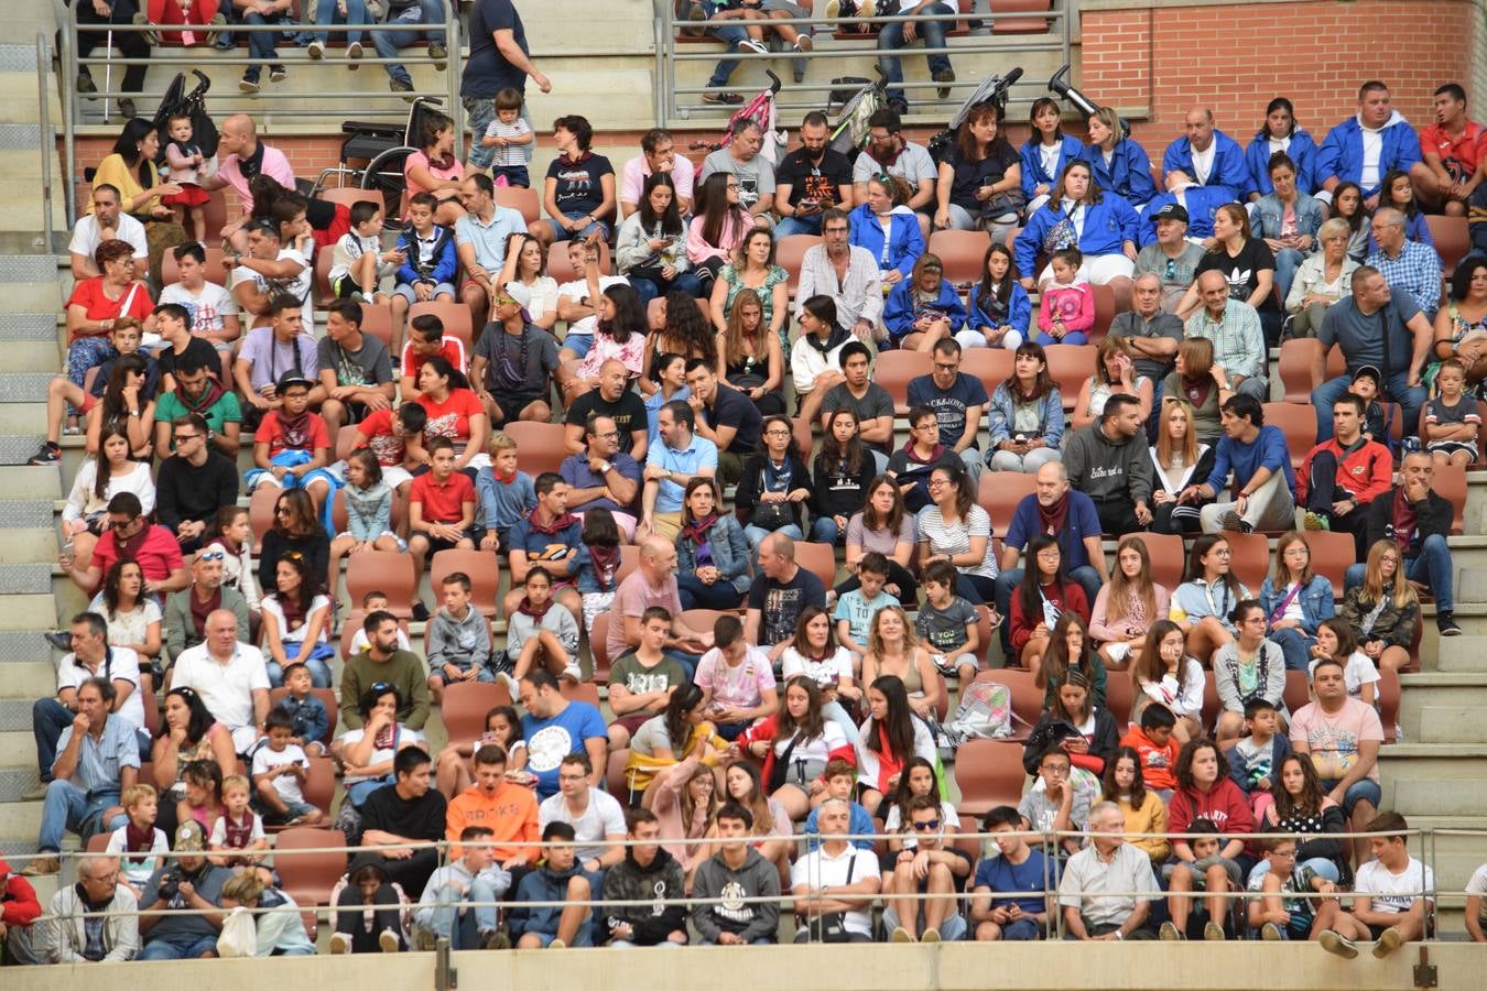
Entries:
{"label": "metal railing at top centre, just left of the brick wall", "polygon": [[[876,45],[876,33],[857,36],[848,40],[836,39],[836,28],[842,24],[865,24],[874,28],[882,28],[886,24],[898,24],[904,21],[901,16],[873,16],[873,18],[851,18],[848,19],[828,19],[818,16],[807,18],[778,18],[769,21],[726,21],[729,27],[763,27],[769,31],[773,27],[794,27],[801,31],[806,28],[824,28],[815,36],[816,45],[810,52],[800,52],[791,48],[782,48],[778,52],[770,52],[769,55],[758,55],[754,52],[741,52],[736,48],[730,49],[726,42],[706,36],[708,43],[687,43],[677,40],[677,31],[681,27],[694,28],[705,31],[709,21],[677,21],[672,3],[659,4],[662,16],[656,19],[656,122],[665,126],[668,120],[672,119],[687,119],[693,113],[705,111],[720,116],[732,114],[738,107],[729,105],[712,105],[699,101],[684,103],[681,97],[700,97],[700,94],[709,92],[706,86],[678,86],[677,85],[677,62],[718,62],[724,58],[730,61],[739,61],[742,65],[752,62],[769,62],[772,59],[788,59],[791,62],[804,59],[807,64],[819,64],[824,59],[876,59],[879,55],[889,55],[889,52],[880,52],[876,48],[864,48],[865,42],[873,42]],[[1048,10],[1038,12],[1019,12],[1019,18],[1045,18],[1048,21],[1047,34],[1016,34],[1016,36],[996,36],[996,34],[971,34],[968,37],[946,39],[946,48],[928,48],[925,45],[917,45],[913,48],[901,48],[891,52],[895,58],[919,58],[923,55],[995,55],[1001,58],[1011,58],[1022,52],[1057,52],[1060,56],[1060,64],[1071,61],[1071,13],[1065,7],[1050,7]],[[961,21],[981,21],[986,30],[990,30],[995,16],[992,13],[932,13],[932,15],[917,15],[913,18],[916,22],[925,21],[946,21],[953,27]],[[861,37],[861,40],[858,40]],[[822,39],[831,39],[830,43],[822,45]],[[998,70],[999,71],[999,70]],[[828,76],[830,73],[821,73]],[[962,77],[953,83],[940,83],[932,80],[903,80],[895,83],[895,88],[906,91],[928,91],[949,88],[952,91],[950,100],[941,100],[935,103],[919,101],[920,108],[935,107],[949,111],[955,108],[958,100],[970,97],[975,89],[977,83],[981,82],[981,76],[971,76],[970,73],[962,73]],[[1013,86],[1014,97],[1017,103],[1032,104],[1035,94],[1032,91],[1042,91],[1045,80],[1028,79],[1019,82]],[[730,88],[739,88],[730,83]],[[776,95],[775,107],[776,110],[819,110],[827,103],[825,94],[834,89],[843,89],[843,85],[831,85],[830,80],[821,80],[815,83],[790,83],[787,82],[779,95]],[[851,86],[848,86],[851,89]],[[1016,92],[1022,91],[1023,97],[1017,97]],[[956,97],[959,94],[959,97]],[[800,95],[803,100],[791,100],[790,97]]]}

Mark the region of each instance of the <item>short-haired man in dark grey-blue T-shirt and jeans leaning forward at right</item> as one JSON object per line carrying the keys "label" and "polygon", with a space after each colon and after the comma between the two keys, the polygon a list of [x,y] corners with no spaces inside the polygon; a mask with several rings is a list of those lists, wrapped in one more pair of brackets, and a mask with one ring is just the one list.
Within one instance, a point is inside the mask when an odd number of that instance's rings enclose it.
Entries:
{"label": "short-haired man in dark grey-blue T-shirt and jeans leaning forward at right", "polygon": [[[1359,266],[1353,272],[1352,297],[1328,306],[1317,331],[1322,348],[1312,360],[1312,380],[1322,383],[1312,389],[1317,441],[1332,437],[1332,404],[1349,391],[1364,365],[1383,371],[1381,398],[1399,404],[1407,431],[1414,432],[1426,401],[1420,368],[1433,339],[1430,319],[1408,293],[1395,293],[1378,269]],[[1326,352],[1332,345],[1341,349],[1347,373],[1328,379]]]}

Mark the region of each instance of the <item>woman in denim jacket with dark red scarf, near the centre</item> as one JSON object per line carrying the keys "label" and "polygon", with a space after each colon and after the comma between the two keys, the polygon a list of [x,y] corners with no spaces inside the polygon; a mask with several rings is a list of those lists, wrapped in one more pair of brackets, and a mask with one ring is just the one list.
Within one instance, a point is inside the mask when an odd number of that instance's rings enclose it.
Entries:
{"label": "woman in denim jacket with dark red scarf, near the centre", "polygon": [[748,593],[749,547],[718,484],[694,475],[681,498],[677,593],[683,609],[736,609]]}

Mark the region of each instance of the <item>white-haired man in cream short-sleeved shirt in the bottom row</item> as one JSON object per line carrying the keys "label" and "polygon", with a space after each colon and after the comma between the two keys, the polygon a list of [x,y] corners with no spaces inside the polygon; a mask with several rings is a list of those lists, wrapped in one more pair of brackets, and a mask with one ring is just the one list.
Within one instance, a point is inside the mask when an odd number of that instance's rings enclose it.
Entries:
{"label": "white-haired man in cream short-sleeved shirt in the bottom row", "polygon": [[[1069,857],[1059,878],[1065,939],[1151,939],[1151,903],[1161,893],[1151,857],[1121,836],[1126,816],[1115,802],[1090,810],[1090,844]],[[1129,894],[1141,891],[1141,894]]]}

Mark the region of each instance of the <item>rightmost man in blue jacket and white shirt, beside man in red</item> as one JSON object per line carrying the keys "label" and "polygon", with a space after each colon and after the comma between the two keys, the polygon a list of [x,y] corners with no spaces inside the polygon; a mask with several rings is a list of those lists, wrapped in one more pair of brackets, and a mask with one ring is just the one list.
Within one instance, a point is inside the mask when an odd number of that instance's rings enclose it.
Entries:
{"label": "rightmost man in blue jacket and white shirt, beside man in red", "polygon": [[1420,160],[1420,137],[1393,108],[1389,88],[1371,79],[1358,91],[1358,114],[1326,132],[1316,153],[1317,192],[1332,202],[1338,183],[1358,183],[1364,207],[1378,207],[1378,186],[1390,169],[1408,172]]}

